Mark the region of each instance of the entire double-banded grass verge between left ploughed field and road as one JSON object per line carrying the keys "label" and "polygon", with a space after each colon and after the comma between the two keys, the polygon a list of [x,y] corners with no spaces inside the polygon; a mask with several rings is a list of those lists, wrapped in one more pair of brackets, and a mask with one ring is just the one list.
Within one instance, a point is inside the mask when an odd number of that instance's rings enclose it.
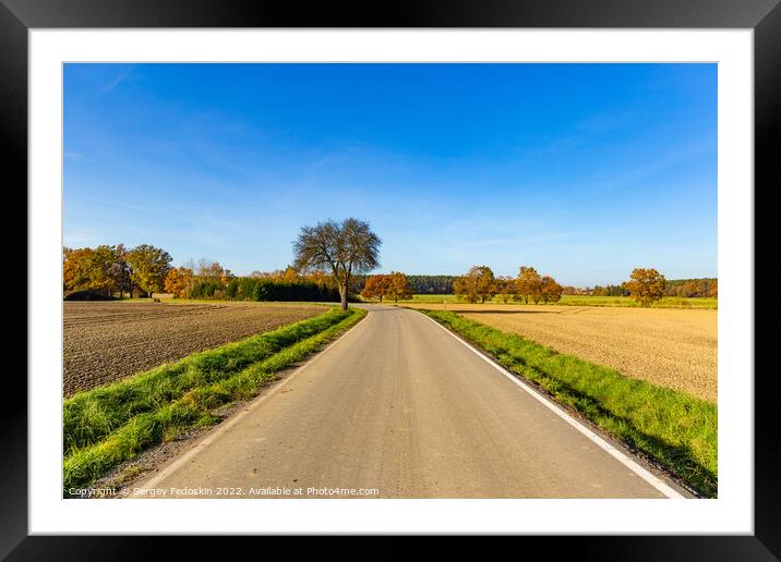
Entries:
{"label": "entire double-banded grass verge between left ploughed field and road", "polygon": [[[333,309],[74,395],[65,405],[71,405],[71,416],[81,416],[81,425],[71,419],[64,433],[65,442],[71,443],[63,462],[64,496],[71,496],[69,489],[84,487],[118,464],[134,459],[144,449],[173,439],[192,427],[216,423],[214,408],[252,398],[276,380],[279,371],[304,359],[365,315],[365,310],[358,308]],[[91,417],[95,412],[99,413],[99,423],[85,430],[95,420]],[[69,435],[69,430],[76,435]],[[92,437],[85,440],[87,433]],[[84,444],[79,447],[77,442]]]}

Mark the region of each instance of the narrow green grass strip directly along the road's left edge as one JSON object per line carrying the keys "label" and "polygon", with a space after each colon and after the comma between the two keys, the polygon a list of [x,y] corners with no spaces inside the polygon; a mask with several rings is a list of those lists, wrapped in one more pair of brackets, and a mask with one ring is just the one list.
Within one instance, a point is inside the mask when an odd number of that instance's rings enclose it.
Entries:
{"label": "narrow green grass strip directly along the road's left edge", "polygon": [[196,426],[217,422],[212,411],[237,400],[247,400],[260,392],[278,372],[304,359],[324,343],[356,325],[365,310],[351,308],[341,320],[297,342],[271,357],[215,382],[192,388],[178,400],[153,412],[134,416],[100,442],[74,450],[63,463],[63,490],[79,488],[100,478],[118,464],[134,459],[141,451],[170,440]]}

